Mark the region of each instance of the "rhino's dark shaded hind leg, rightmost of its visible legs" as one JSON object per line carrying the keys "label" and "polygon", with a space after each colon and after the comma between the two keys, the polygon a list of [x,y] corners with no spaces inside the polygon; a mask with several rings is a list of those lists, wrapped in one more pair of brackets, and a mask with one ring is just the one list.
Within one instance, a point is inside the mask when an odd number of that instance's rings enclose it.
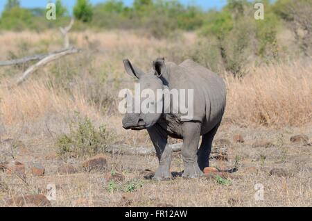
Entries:
{"label": "rhino's dark shaded hind leg, rightmost of its visible legs", "polygon": [[216,135],[219,126],[220,123],[218,123],[214,129],[202,136],[202,143],[198,149],[198,165],[200,170],[204,170],[205,167],[209,167],[209,155],[211,152],[212,140],[214,140],[214,136]]}

